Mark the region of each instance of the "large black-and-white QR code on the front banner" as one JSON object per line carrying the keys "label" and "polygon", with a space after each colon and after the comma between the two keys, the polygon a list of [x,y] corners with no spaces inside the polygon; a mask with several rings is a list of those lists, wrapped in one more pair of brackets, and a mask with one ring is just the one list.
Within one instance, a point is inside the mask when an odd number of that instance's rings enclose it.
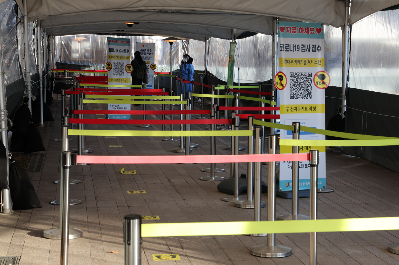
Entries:
{"label": "large black-and-white QR code on the front banner", "polygon": [[312,98],[312,73],[290,73],[290,99]]}

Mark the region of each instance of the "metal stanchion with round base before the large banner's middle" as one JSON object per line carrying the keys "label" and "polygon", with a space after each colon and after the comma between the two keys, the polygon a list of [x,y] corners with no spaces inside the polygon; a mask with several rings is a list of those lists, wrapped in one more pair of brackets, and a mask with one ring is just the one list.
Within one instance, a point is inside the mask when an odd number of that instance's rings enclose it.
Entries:
{"label": "metal stanchion with round base before the large banner's middle", "polygon": [[[299,140],[300,123],[293,122],[294,131],[292,131],[292,140]],[[292,146],[292,154],[299,154],[299,146]],[[310,190],[312,192],[312,190]],[[299,162],[292,161],[292,211],[290,214],[278,216],[278,220],[309,220],[309,216],[299,214]]]}

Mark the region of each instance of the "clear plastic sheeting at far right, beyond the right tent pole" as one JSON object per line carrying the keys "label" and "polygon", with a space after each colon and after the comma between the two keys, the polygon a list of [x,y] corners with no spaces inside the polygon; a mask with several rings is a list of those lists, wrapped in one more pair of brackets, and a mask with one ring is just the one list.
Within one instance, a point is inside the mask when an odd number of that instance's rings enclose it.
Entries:
{"label": "clear plastic sheeting at far right, beyond the right tent pole", "polygon": [[399,94],[399,10],[352,25],[349,86]]}

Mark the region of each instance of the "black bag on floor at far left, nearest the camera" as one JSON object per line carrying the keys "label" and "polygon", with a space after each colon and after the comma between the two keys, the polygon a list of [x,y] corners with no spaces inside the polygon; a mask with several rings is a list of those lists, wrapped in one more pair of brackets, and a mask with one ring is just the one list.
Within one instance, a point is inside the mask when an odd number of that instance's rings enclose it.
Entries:
{"label": "black bag on floor at far left, nearest the camera", "polygon": [[30,177],[14,159],[10,163],[10,194],[13,210],[28,210],[41,208],[41,203]]}

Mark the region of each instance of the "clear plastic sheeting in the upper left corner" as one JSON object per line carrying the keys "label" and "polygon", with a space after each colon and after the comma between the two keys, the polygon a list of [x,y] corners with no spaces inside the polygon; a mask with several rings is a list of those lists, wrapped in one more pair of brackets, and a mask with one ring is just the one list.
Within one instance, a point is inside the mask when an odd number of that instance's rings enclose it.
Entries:
{"label": "clear plastic sheeting in the upper left corner", "polygon": [[21,78],[17,52],[17,17],[14,12],[14,5],[15,2],[13,0],[0,3],[3,66],[6,73],[6,86]]}

